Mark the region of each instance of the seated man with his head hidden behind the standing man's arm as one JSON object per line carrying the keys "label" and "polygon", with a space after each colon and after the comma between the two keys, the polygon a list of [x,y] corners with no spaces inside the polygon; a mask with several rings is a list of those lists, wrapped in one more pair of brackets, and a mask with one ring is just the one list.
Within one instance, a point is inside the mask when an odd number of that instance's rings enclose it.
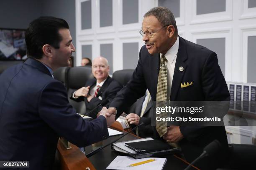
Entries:
{"label": "seated man with his head hidden behind the standing man's arm", "polygon": [[153,103],[151,101],[151,95],[148,90],[146,94],[139,98],[130,108],[129,114],[126,116],[126,120],[131,124],[131,126],[139,125],[144,123],[136,130],[136,135],[141,138],[154,137],[153,128],[151,126],[151,117],[153,112]]}

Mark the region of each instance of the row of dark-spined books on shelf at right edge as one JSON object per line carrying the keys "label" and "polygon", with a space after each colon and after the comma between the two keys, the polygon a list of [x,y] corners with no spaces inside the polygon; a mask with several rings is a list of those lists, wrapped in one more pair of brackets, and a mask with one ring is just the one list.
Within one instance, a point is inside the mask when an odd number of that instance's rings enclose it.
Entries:
{"label": "row of dark-spined books on shelf at right edge", "polygon": [[256,113],[256,84],[228,82],[230,109]]}

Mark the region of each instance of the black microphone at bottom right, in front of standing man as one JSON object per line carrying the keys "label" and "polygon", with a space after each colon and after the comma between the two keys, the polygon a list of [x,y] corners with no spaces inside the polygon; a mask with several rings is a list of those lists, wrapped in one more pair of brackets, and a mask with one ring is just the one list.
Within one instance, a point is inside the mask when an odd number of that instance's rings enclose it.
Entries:
{"label": "black microphone at bottom right, in front of standing man", "polygon": [[213,140],[211,143],[205,146],[203,153],[197,159],[195,159],[191,164],[189,164],[187,168],[184,170],[188,170],[193,164],[195,164],[198,160],[200,160],[201,158],[204,158],[205,156],[215,155],[220,151],[221,147],[222,146],[218,140],[216,139]]}

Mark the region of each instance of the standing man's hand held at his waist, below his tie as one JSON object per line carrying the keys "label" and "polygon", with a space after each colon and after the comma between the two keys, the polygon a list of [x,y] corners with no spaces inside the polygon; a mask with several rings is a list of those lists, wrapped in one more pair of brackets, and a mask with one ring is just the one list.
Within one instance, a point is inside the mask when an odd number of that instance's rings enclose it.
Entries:
{"label": "standing man's hand held at his waist, below his tie", "polygon": [[164,140],[168,140],[170,143],[177,143],[182,140],[182,138],[184,138],[184,136],[180,132],[179,126],[169,126],[164,135]]}

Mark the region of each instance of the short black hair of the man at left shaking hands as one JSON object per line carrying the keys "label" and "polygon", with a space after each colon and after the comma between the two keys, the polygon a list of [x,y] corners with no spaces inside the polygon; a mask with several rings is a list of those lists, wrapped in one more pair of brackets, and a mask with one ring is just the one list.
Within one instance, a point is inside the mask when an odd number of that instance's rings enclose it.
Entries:
{"label": "short black hair of the man at left shaking hands", "polygon": [[69,25],[61,18],[46,16],[33,20],[25,34],[28,57],[41,59],[42,47],[46,44],[59,48],[59,43],[62,40],[59,30],[63,28],[69,29]]}

